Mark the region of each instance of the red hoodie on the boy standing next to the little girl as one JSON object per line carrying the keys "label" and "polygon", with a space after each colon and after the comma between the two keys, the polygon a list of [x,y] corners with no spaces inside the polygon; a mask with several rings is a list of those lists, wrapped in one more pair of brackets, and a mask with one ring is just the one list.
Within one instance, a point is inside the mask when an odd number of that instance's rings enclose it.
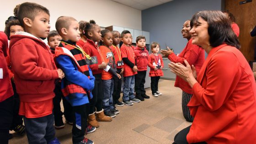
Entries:
{"label": "red hoodie on the boy standing next to the little girl", "polygon": [[149,52],[146,49],[146,47],[142,50],[141,48],[136,46],[133,49],[133,52],[135,55],[135,60],[136,60],[136,65],[137,65],[138,71],[147,70]]}

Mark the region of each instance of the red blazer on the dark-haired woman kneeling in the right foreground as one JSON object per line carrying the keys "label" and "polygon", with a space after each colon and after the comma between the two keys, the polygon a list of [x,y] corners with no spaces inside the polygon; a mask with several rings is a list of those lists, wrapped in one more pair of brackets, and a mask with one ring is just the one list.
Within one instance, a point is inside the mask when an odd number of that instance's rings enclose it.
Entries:
{"label": "red blazer on the dark-haired woman kneeling in the right foreground", "polygon": [[226,44],[213,48],[197,81],[187,105],[195,117],[188,143],[256,144],[256,83],[243,54]]}

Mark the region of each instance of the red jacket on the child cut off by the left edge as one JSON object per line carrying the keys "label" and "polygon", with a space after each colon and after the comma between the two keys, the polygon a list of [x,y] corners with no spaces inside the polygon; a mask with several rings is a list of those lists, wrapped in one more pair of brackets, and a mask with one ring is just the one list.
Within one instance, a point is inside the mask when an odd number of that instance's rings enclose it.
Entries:
{"label": "red jacket on the child cut off by the left edge", "polygon": [[8,73],[5,57],[7,56],[8,38],[0,32],[0,102],[13,95],[11,80]]}

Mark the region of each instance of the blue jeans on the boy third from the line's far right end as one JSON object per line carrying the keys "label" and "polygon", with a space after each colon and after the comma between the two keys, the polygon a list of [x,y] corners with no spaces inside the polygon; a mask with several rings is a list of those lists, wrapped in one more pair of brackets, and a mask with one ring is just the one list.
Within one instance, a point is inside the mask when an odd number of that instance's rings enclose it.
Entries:
{"label": "blue jeans on the boy third from the line's far right end", "polygon": [[134,84],[135,76],[123,77],[123,101],[128,101],[133,99],[134,96]]}

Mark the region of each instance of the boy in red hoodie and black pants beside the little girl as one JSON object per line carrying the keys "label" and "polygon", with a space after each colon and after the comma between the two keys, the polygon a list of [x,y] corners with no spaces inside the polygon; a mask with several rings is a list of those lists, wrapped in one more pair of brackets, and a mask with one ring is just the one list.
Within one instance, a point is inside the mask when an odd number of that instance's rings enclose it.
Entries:
{"label": "boy in red hoodie and black pants beside the little girl", "polygon": [[143,36],[138,36],[136,38],[136,45],[137,46],[133,49],[133,52],[135,54],[138,74],[135,75],[134,89],[136,92],[136,98],[138,98],[140,101],[144,101],[144,98],[150,98],[146,95],[146,91],[144,89],[149,55],[149,52],[146,49],[146,38]]}

